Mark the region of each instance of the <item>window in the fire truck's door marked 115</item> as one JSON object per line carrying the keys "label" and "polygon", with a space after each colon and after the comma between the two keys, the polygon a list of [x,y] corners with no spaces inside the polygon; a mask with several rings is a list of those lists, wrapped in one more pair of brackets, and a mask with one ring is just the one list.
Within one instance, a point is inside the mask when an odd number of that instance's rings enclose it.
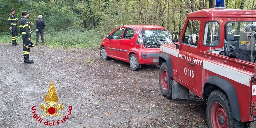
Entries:
{"label": "window in the fire truck's door marked 115", "polygon": [[200,20],[188,20],[182,43],[197,46],[199,38]]}

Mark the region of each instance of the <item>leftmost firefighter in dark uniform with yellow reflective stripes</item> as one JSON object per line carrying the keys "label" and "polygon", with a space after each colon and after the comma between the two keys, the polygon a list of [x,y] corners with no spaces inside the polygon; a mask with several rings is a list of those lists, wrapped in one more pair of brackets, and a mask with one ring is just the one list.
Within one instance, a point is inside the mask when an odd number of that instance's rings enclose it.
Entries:
{"label": "leftmost firefighter in dark uniform with yellow reflective stripes", "polygon": [[19,23],[18,18],[15,18],[15,9],[12,8],[11,12],[8,15],[8,26],[9,26],[9,30],[10,32],[12,32],[12,45],[16,46],[19,45],[17,43],[17,36],[18,36],[18,28],[17,28],[17,24]]}

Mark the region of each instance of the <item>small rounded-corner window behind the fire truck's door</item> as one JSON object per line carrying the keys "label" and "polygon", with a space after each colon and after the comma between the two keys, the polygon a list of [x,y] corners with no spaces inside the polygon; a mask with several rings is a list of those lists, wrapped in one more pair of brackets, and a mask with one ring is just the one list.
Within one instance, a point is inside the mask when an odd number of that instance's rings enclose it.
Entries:
{"label": "small rounded-corner window behind the fire truck's door", "polygon": [[210,21],[204,27],[204,45],[217,46],[220,44],[220,27],[218,22]]}

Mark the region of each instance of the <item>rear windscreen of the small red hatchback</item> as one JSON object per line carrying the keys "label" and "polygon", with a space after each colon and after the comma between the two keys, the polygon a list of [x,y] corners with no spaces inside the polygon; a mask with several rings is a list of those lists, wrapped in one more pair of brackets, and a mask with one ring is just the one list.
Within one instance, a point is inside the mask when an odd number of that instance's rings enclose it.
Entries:
{"label": "rear windscreen of the small red hatchback", "polygon": [[162,44],[172,44],[170,33],[164,30],[145,30],[142,37],[146,48],[160,48]]}

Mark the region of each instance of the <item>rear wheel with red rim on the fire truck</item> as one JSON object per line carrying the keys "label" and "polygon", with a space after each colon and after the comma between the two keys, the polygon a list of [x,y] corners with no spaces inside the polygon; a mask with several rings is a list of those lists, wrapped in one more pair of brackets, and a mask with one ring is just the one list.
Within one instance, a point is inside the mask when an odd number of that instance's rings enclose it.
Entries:
{"label": "rear wheel with red rim on the fire truck", "polygon": [[207,124],[209,128],[244,128],[244,124],[232,116],[227,95],[221,90],[214,90],[210,94],[206,108]]}

